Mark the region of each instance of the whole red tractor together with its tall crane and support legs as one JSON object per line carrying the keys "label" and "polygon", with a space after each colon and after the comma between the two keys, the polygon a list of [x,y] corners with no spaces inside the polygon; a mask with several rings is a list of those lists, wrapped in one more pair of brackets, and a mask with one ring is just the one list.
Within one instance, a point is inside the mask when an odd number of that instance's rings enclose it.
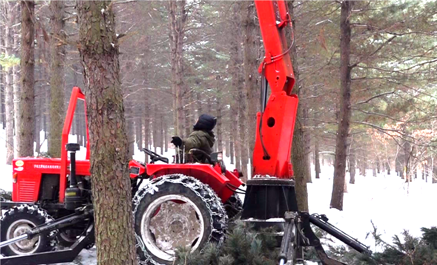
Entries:
{"label": "whole red tractor together with its tall crane and support legs", "polygon": [[[297,207],[290,150],[298,99],[291,93],[294,75],[285,37],[291,18],[285,0],[255,0],[255,4],[266,56],[260,66],[261,112],[257,131],[252,132],[256,133],[254,175],[245,191],[240,172],[226,170],[220,153],[208,156],[207,164],[169,164],[167,158],[143,149],[150,163],[129,163],[137,253],[143,263],[172,264],[176,246],[194,251],[208,242],[221,244],[229,218],[240,211],[241,219],[256,227],[283,229],[280,264],[303,261],[305,246],[314,247],[325,265],[343,264],[326,255],[310,223],[370,254],[366,246],[328,223],[326,216],[309,215]],[[86,159],[76,161],[80,146],[67,142],[77,100],[85,101],[85,96],[73,88],[60,159],[13,161],[12,201],[0,202],[0,208],[7,210],[0,220],[0,252],[9,257],[0,259],[0,265],[69,262],[94,243],[89,148]],[[238,193],[245,193],[243,207]],[[57,244],[67,248],[54,251]]]}

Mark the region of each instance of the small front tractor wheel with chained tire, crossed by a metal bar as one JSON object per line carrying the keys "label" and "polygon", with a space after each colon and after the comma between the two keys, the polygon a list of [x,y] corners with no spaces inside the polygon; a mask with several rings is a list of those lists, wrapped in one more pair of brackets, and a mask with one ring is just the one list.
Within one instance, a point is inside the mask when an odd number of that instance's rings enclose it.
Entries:
{"label": "small front tractor wheel with chained tire, crossed by a metal bar", "polygon": [[[20,205],[9,209],[0,220],[0,242],[21,236],[35,226],[53,221],[45,211],[34,205]],[[52,251],[56,245],[56,231],[45,232],[30,240],[22,240],[0,249],[5,256]]]}

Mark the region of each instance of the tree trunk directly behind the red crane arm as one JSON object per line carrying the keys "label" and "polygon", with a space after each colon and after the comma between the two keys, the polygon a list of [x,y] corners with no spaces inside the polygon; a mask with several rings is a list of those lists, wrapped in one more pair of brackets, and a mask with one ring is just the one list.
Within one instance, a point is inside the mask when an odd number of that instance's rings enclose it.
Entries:
{"label": "tree trunk directly behind the red crane arm", "polygon": [[[296,21],[294,17],[294,0],[288,1],[288,7],[290,11],[290,16],[293,21],[293,28],[296,28]],[[287,40],[289,40],[289,45],[291,45],[292,37],[290,36],[291,32],[288,32]],[[300,95],[300,83],[299,83],[299,64],[297,61],[297,48],[296,41],[293,42],[293,46],[291,48],[291,60],[293,63],[294,70],[294,78],[295,84],[292,90],[293,94],[297,96]],[[308,191],[306,187],[307,180],[311,178],[311,176],[307,176],[307,168],[306,163],[308,162],[307,156],[305,154],[305,146],[304,146],[304,135],[303,135],[303,122],[302,122],[302,107],[299,105],[296,113],[296,124],[294,127],[293,134],[293,142],[292,142],[292,150],[291,150],[291,161],[293,164],[294,178],[296,181],[296,197],[297,197],[297,205],[299,211],[308,212]]]}

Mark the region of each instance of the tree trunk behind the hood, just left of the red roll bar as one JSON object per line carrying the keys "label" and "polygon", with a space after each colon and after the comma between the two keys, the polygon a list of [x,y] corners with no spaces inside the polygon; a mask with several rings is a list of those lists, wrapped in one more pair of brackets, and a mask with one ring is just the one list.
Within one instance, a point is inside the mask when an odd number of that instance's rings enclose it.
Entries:
{"label": "tree trunk behind the hood, just left of the red roll bar", "polygon": [[50,64],[50,134],[49,134],[49,156],[61,157],[62,129],[64,126],[64,59],[65,46],[58,41],[58,38],[66,38],[64,31],[64,0],[50,1],[50,26],[52,28]]}

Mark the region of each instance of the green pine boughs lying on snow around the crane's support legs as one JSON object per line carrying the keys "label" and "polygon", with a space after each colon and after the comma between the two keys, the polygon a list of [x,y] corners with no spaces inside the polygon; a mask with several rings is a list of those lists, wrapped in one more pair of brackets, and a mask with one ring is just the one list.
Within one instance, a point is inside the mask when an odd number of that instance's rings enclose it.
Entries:
{"label": "green pine boughs lying on snow around the crane's support legs", "polygon": [[[410,235],[393,236],[392,244],[381,239],[376,226],[369,233],[375,239],[375,246],[383,246],[382,252],[374,253],[372,259],[344,245],[332,246],[329,235],[315,227],[314,234],[324,242],[327,254],[348,265],[430,265],[437,264],[437,228],[422,228],[422,237]],[[222,247],[209,244],[202,252],[181,248],[177,251],[175,265],[273,265],[277,264],[279,249],[276,239],[269,234],[273,231],[256,233],[250,226],[239,221],[228,231]],[[320,262],[313,248],[305,249],[305,260]]]}

